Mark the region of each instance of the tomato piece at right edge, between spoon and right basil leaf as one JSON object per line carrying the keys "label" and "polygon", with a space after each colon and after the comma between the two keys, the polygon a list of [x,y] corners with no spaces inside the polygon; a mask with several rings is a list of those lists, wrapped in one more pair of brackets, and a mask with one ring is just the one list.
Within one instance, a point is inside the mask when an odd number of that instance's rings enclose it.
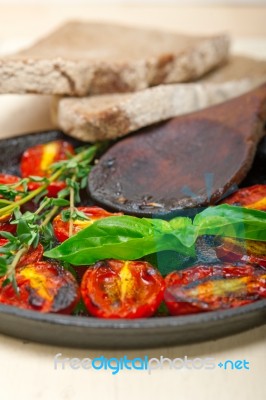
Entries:
{"label": "tomato piece at right edge, between spoon and right basil leaf", "polygon": [[266,211],[266,185],[254,185],[239,189],[221,203]]}

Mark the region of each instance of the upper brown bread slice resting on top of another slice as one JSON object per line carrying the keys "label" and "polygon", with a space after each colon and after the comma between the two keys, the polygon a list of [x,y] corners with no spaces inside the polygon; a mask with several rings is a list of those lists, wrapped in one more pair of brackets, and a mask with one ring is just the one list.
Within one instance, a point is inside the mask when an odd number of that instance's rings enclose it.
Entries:
{"label": "upper brown bread slice resting on top of another slice", "polygon": [[0,93],[72,96],[129,92],[199,78],[228,56],[226,35],[192,37],[69,22],[0,59]]}

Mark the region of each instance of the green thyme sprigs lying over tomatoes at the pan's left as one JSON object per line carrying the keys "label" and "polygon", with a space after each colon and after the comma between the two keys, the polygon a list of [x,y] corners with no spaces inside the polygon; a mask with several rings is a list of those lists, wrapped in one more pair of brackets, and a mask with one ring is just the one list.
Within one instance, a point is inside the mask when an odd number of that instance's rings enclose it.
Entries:
{"label": "green thyme sprigs lying over tomatoes at the pan's left", "polygon": [[[90,172],[99,145],[83,148],[78,154],[63,161],[51,165],[50,177],[31,176],[22,179],[15,184],[0,185],[0,217],[13,215],[11,224],[16,224],[16,234],[0,231],[0,236],[6,238],[8,243],[1,247],[0,276],[5,276],[5,282],[11,282],[18,291],[15,271],[21,257],[30,247],[36,248],[42,243],[45,250],[52,248],[54,233],[51,221],[59,212],[60,207],[69,206],[63,211],[64,220],[70,222],[70,234],[73,232],[73,219],[87,219],[85,214],[75,208],[75,203],[80,202],[79,192],[86,186],[88,173]],[[56,181],[63,180],[66,187],[58,193],[57,198],[44,197],[48,186]],[[28,183],[39,182],[40,186],[29,192]],[[66,198],[69,197],[69,200]],[[21,206],[34,200],[38,208],[34,212],[21,212]],[[68,211],[68,213],[67,213]]]}

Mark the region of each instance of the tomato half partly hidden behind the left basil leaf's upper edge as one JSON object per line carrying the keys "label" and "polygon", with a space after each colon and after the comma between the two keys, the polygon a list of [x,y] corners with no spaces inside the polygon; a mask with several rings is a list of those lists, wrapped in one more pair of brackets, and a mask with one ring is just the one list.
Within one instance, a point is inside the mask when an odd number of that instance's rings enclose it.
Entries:
{"label": "tomato half partly hidden behind the left basil leaf's upper edge", "polygon": [[[77,207],[77,210],[83,212],[89,218],[89,220],[76,219],[73,221],[73,234],[76,234],[82,229],[87,228],[98,219],[112,217],[114,215],[122,215],[121,213],[110,213],[100,207]],[[64,222],[61,214],[58,214],[54,218],[53,228],[55,237],[59,242],[64,242],[69,238],[69,222]]]}

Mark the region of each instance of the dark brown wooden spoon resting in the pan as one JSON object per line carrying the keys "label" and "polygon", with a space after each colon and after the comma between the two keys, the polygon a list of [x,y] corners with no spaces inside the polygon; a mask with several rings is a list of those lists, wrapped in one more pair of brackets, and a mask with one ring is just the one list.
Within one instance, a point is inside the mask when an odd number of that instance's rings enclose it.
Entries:
{"label": "dark brown wooden spoon resting in the pan", "polygon": [[265,121],[266,84],[141,129],[102,156],[89,177],[90,195],[134,215],[214,204],[246,176]]}

